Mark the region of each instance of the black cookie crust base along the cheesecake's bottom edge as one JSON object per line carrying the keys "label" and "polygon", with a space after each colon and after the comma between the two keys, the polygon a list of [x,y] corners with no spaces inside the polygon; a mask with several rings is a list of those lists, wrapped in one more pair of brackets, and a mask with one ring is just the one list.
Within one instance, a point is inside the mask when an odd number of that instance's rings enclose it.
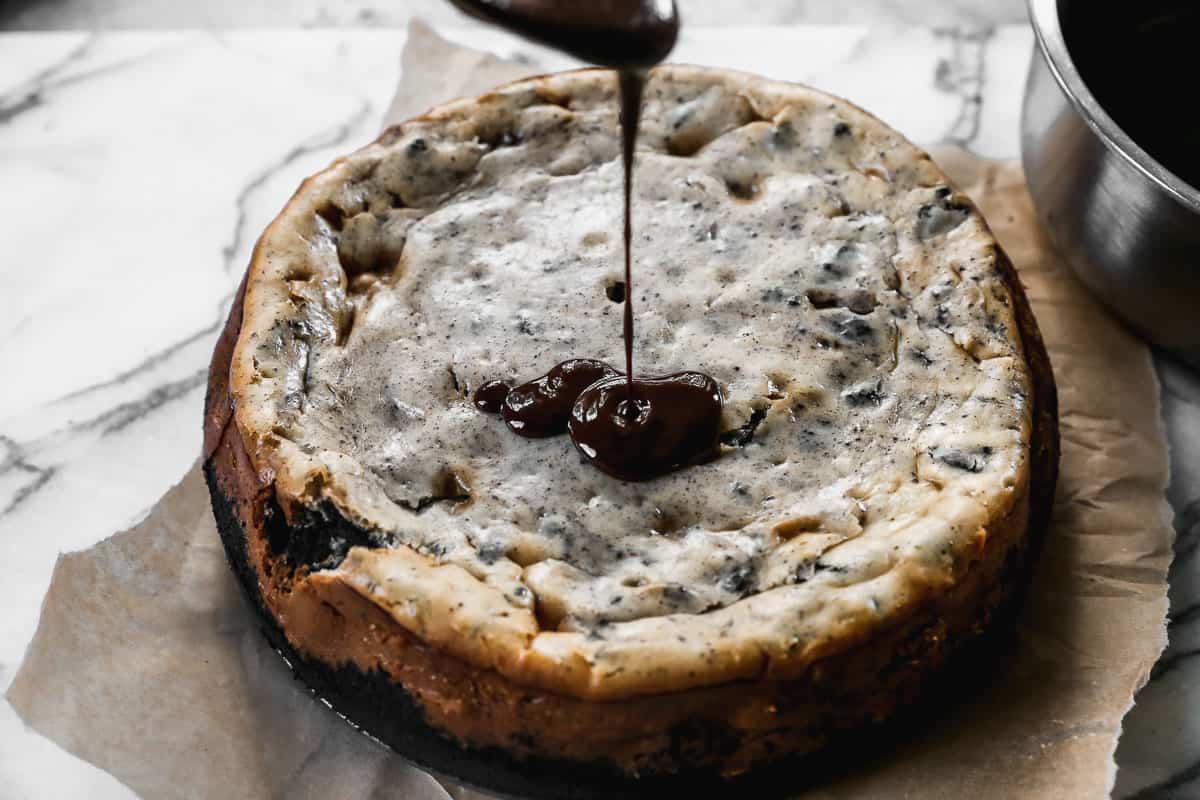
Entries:
{"label": "black cookie crust base along the cheesecake's bottom edge", "polygon": [[[887,752],[895,742],[919,735],[936,726],[937,718],[959,699],[970,697],[986,682],[986,675],[1003,663],[1009,644],[1009,622],[1020,604],[1024,578],[1032,563],[1031,548],[1008,559],[1003,583],[1015,590],[988,609],[978,627],[988,637],[968,636],[950,642],[953,660],[942,670],[923,675],[919,706],[911,702],[883,721],[864,720],[864,728],[832,736],[820,753],[788,757],[728,777],[718,769],[695,769],[677,774],[631,777],[605,760],[581,763],[538,757],[514,757],[499,747],[469,747],[432,727],[413,696],[379,670],[364,672],[353,663],[334,666],[302,655],[288,642],[278,621],[268,610],[258,591],[258,579],[250,566],[246,539],[234,509],[209,461],[205,479],[212,494],[212,509],[226,554],[246,599],[253,606],[263,634],[284,658],[293,673],[318,699],[364,734],[388,745],[409,763],[503,798],[530,800],[660,800],[686,794],[694,798],[728,798],[752,792],[763,799],[794,795],[808,786],[833,780],[860,769],[864,759]],[[1044,529],[1044,528],[1043,528]],[[1040,542],[1031,542],[1039,546]],[[970,678],[968,678],[970,675]],[[936,684],[934,679],[941,676]],[[983,676],[983,678],[980,678]],[[918,699],[917,694],[913,700]],[[671,748],[684,752],[708,745],[720,746],[721,732],[703,726],[680,727],[672,732]],[[672,794],[674,793],[674,794]]]}

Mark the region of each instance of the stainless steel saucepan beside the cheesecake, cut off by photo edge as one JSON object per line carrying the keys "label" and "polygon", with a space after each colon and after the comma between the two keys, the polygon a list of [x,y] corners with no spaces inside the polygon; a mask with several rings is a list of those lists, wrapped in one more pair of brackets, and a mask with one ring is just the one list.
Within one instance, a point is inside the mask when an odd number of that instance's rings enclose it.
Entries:
{"label": "stainless steel saucepan beside the cheesecake, cut off by photo edge", "polygon": [[[1200,367],[1200,190],[1159,164],[1100,108],[1063,37],[1073,4],[1086,4],[1093,17],[1108,5],[1028,0],[1037,34],[1021,120],[1030,192],[1084,283],[1132,327]],[[1177,109],[1195,102],[1194,77],[1176,77]],[[1171,109],[1163,113],[1170,124]]]}

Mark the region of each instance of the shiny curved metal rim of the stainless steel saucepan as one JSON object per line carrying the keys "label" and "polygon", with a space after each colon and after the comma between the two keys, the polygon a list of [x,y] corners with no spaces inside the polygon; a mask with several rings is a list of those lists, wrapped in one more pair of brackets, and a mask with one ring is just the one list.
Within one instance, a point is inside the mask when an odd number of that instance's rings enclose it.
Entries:
{"label": "shiny curved metal rim of the stainless steel saucepan", "polygon": [[1038,49],[1050,68],[1050,73],[1058,83],[1058,88],[1109,150],[1116,152],[1134,169],[1193,212],[1200,213],[1200,190],[1184,182],[1142,150],[1100,108],[1096,96],[1087,89],[1067,50],[1058,14],[1061,4],[1062,0],[1028,0],[1030,19],[1033,23]]}

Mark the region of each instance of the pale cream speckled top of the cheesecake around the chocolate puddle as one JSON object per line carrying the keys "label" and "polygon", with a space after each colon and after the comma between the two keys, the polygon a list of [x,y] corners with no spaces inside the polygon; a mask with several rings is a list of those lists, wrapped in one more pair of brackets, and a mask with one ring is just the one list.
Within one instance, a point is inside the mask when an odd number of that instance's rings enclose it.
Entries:
{"label": "pale cream speckled top of the cheesecake around the chocolate puddle", "polygon": [[842,101],[652,73],[638,372],[719,381],[718,458],[626,483],[474,407],[490,379],[623,362],[613,92],[602,72],[516,84],[301,190],[235,356],[256,467],[380,531],[390,549],[332,572],[409,630],[454,645],[511,609],[494,648],[458,645],[511,669],[770,661],[953,582],[1027,480],[1012,299],[978,212]]}

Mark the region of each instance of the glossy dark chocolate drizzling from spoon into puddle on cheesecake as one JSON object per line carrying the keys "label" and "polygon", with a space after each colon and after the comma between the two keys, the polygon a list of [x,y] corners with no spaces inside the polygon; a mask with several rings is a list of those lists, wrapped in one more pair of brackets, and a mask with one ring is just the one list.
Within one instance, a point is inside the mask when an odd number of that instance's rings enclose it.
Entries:
{"label": "glossy dark chocolate drizzling from spoon into puddle on cheesecake", "polygon": [[469,13],[593,64],[616,67],[620,91],[624,167],[622,338],[625,371],[571,359],[545,375],[510,387],[492,380],[475,405],[498,413],[514,433],[570,433],[580,452],[614,477],[641,481],[703,461],[716,451],[721,391],[698,372],[634,377],[632,180],[644,67],[674,46],[673,2],[655,0],[452,0]]}

